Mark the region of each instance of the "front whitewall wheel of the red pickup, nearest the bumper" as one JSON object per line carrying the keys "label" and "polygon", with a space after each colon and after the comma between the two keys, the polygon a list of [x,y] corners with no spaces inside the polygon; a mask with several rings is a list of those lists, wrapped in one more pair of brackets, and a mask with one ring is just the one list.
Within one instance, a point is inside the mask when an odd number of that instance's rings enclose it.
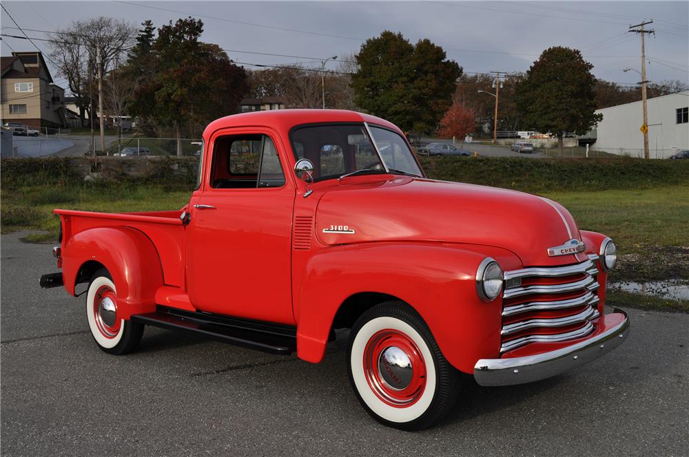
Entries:
{"label": "front whitewall wheel of the red pickup, nearest the bumper", "polygon": [[347,368],[364,409],[390,427],[431,427],[457,401],[459,373],[423,319],[400,301],[374,306],[356,321]]}

